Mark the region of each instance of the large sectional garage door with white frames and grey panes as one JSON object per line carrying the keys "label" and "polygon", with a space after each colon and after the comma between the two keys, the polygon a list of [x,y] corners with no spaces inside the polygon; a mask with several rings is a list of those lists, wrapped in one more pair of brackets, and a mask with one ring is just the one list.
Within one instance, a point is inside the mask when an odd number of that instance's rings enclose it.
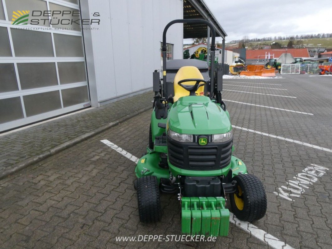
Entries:
{"label": "large sectional garage door with white frames and grey panes", "polygon": [[81,26],[57,24],[78,10],[78,0],[0,0],[0,131],[90,106]]}

